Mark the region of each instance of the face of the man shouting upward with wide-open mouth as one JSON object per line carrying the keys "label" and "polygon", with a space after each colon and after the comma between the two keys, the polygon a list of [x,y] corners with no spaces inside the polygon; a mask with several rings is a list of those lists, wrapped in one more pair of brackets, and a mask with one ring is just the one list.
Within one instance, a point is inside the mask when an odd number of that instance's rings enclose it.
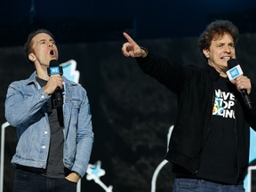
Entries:
{"label": "face of the man shouting upward with wide-open mouth", "polygon": [[32,38],[31,44],[33,51],[29,53],[28,58],[36,66],[48,68],[50,60],[58,60],[58,49],[54,40],[48,34],[37,34]]}

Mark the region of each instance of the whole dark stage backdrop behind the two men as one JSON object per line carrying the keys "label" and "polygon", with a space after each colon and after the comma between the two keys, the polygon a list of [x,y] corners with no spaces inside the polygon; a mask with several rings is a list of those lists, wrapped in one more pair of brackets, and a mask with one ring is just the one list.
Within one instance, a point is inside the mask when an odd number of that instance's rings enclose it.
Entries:
{"label": "whole dark stage backdrop behind the two men", "polygon": [[[76,60],[79,83],[88,92],[95,132],[90,163],[101,161],[106,175],[100,180],[112,185],[113,192],[150,191],[178,108],[172,92],[144,75],[135,60],[124,58],[123,31],[176,65],[204,66],[198,36],[212,20],[231,20],[242,33],[237,60],[255,82],[255,18],[254,0],[1,0],[0,124],[6,121],[8,85],[34,71],[22,49],[28,33],[36,28],[50,29],[56,37],[60,62]],[[16,142],[14,128],[7,128],[4,192],[12,191],[14,167],[10,161]],[[82,191],[104,190],[84,177]],[[172,164],[164,166],[156,183],[156,192],[167,191],[172,191]]]}

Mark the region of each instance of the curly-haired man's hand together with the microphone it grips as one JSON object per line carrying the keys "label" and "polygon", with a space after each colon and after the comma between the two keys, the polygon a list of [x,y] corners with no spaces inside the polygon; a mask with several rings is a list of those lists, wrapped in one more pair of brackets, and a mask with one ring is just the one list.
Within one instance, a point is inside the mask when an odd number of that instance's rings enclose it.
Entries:
{"label": "curly-haired man's hand together with the microphone it grips", "polygon": [[252,101],[248,96],[252,89],[251,80],[247,76],[243,76],[242,68],[235,59],[228,60],[228,68],[227,75],[230,82],[235,84],[237,90],[241,92],[247,108],[252,109]]}

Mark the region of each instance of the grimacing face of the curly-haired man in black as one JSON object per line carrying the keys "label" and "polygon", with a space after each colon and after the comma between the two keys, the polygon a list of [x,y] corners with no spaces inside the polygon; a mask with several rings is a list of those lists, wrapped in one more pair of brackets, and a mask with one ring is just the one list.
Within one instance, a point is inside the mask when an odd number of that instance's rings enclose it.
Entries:
{"label": "grimacing face of the curly-haired man in black", "polygon": [[223,36],[214,38],[212,39],[210,48],[204,49],[203,52],[208,59],[208,64],[220,72],[220,75],[227,76],[228,60],[236,58],[233,37],[229,34],[224,34]]}

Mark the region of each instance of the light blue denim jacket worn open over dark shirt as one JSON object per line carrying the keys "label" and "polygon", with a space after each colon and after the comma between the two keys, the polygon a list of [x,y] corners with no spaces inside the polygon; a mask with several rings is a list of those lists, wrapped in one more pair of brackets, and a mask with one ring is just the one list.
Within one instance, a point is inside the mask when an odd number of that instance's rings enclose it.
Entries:
{"label": "light blue denim jacket worn open over dark shirt", "polygon": [[[92,151],[92,115],[84,88],[64,79],[63,164],[84,176]],[[44,103],[50,98],[36,83],[36,72],[28,79],[9,85],[5,117],[16,127],[19,138],[13,164],[46,168],[50,144],[50,126]]]}

